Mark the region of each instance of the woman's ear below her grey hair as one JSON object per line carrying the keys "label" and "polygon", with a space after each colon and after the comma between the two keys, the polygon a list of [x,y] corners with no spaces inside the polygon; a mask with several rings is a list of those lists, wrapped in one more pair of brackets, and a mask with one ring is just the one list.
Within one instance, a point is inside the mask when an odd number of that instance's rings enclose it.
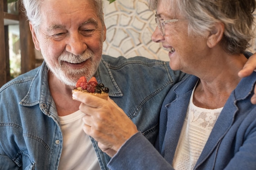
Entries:
{"label": "woman's ear below her grey hair", "polygon": [[224,34],[225,26],[223,23],[217,22],[207,37],[207,45],[212,48],[218,44]]}

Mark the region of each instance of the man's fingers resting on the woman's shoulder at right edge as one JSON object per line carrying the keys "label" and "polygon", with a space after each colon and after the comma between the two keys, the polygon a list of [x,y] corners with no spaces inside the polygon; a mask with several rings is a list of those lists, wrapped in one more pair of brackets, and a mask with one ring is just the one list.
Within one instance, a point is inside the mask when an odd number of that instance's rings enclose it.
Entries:
{"label": "man's fingers resting on the woman's shoulder at right edge", "polygon": [[[247,77],[252,74],[256,69],[256,53],[249,57],[248,61],[245,63],[243,69],[238,72],[239,77]],[[256,85],[254,86],[254,95],[251,98],[252,104],[256,104]]]}

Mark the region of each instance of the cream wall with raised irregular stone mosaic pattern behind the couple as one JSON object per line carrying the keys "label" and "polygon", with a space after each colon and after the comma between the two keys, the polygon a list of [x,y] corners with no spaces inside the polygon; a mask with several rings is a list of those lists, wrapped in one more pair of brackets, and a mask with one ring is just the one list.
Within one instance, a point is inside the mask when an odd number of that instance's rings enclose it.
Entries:
{"label": "cream wall with raised irregular stone mosaic pattern behind the couple", "polygon": [[[140,55],[169,60],[168,52],[161,44],[151,41],[156,23],[155,15],[148,10],[146,0],[117,0],[111,4],[105,0],[104,3],[107,39],[104,42],[103,54],[113,57],[123,55],[126,58]],[[248,51],[254,53],[255,40],[251,44]]]}

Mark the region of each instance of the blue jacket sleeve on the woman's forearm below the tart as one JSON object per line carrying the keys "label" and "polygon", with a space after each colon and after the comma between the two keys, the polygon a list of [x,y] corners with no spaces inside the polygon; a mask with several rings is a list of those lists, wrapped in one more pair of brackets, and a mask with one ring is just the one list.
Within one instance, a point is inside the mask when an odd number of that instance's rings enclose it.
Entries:
{"label": "blue jacket sleeve on the woman's forearm below the tart", "polygon": [[108,163],[111,170],[173,170],[154,146],[138,132]]}

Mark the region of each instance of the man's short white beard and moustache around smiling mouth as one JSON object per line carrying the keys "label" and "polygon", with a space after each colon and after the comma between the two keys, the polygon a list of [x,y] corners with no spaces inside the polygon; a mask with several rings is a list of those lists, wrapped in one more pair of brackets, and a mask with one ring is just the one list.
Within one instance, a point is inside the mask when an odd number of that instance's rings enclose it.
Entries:
{"label": "man's short white beard and moustache around smiling mouth", "polygon": [[[42,51],[42,55],[43,51]],[[90,79],[96,72],[99,63],[101,61],[101,56],[94,56],[94,53],[91,50],[86,50],[83,55],[73,55],[72,53],[62,53],[58,57],[58,65],[52,64],[47,57],[44,57],[45,63],[47,64],[47,67],[49,70],[64,84],[69,86],[76,86],[77,80],[81,76],[85,76],[88,79]],[[81,63],[86,60],[88,62],[88,65],[84,68],[80,69],[73,69],[69,68],[67,66],[62,65],[62,62],[70,62],[70,63]]]}

